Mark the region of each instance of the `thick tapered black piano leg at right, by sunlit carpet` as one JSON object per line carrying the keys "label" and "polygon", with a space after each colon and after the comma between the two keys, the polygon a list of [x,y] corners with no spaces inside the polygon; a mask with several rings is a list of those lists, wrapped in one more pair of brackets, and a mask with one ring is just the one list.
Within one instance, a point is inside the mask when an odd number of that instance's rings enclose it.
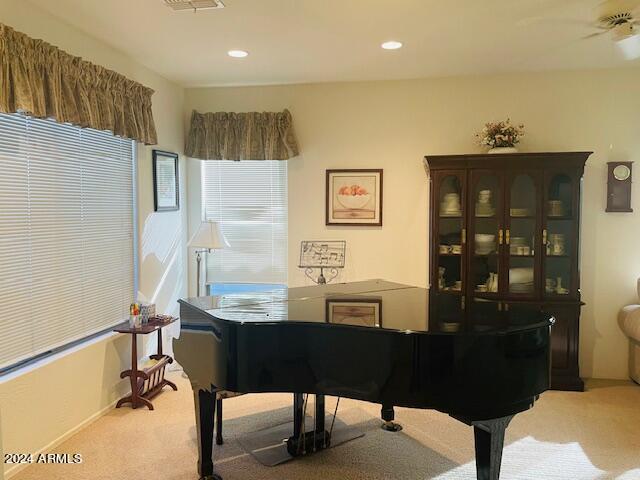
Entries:
{"label": "thick tapered black piano leg at right, by sunlit carpet", "polygon": [[498,480],[502,463],[504,431],[513,415],[472,422],[476,440],[476,471],[478,480]]}

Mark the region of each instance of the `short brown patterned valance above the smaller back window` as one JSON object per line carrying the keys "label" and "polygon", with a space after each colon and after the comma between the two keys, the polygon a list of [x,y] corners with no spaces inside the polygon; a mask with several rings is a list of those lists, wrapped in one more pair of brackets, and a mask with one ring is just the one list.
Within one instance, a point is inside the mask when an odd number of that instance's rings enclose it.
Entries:
{"label": "short brown patterned valance above the smaller back window", "polygon": [[287,160],[298,155],[289,110],[191,115],[186,155],[202,160]]}

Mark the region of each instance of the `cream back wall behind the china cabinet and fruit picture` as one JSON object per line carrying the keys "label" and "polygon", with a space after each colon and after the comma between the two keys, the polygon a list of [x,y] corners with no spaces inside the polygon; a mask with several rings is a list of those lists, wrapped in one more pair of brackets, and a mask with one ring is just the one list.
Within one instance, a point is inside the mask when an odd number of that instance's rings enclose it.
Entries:
{"label": "cream back wall behind the china cabinet and fruit picture", "polygon": [[[626,378],[618,309],[635,301],[638,213],[606,214],[606,162],[640,154],[640,69],[337,83],[185,92],[185,118],[206,111],[291,110],[302,154],[289,161],[289,283],[304,283],[304,239],[346,239],[343,280],[427,284],[428,185],[422,158],[477,152],[474,132],[510,116],[523,151],[593,150],[584,181],[581,374]],[[187,127],[188,125],[185,125]],[[189,160],[190,215],[199,211]],[[384,169],[382,228],[324,225],[325,169]],[[636,212],[640,192],[634,192]]]}

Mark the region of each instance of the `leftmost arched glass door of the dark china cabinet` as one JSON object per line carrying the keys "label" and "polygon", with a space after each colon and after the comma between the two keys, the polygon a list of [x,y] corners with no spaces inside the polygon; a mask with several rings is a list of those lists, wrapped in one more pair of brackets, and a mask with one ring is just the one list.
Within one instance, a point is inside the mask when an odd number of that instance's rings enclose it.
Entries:
{"label": "leftmost arched glass door of the dark china cabinet", "polygon": [[435,287],[438,292],[462,295],[464,291],[465,173],[444,173],[436,179],[438,206],[436,235],[438,244]]}

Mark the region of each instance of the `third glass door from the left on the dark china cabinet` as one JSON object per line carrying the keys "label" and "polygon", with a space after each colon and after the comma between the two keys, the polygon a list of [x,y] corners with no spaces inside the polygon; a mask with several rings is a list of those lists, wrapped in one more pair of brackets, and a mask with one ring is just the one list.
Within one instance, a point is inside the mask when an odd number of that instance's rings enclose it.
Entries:
{"label": "third glass door from the left on the dark china cabinet", "polygon": [[510,297],[534,297],[540,284],[539,204],[540,175],[509,175],[506,210],[505,256],[507,293]]}

